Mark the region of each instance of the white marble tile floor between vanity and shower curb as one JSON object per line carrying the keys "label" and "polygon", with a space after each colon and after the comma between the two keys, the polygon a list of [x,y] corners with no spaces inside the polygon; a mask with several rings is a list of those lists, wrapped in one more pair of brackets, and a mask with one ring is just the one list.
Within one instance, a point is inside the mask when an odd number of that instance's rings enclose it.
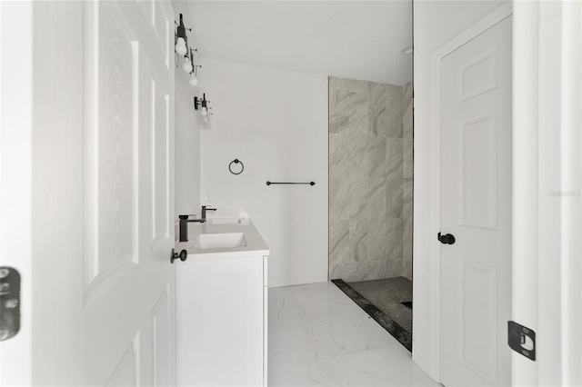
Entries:
{"label": "white marble tile floor between vanity and shower curb", "polygon": [[269,288],[268,385],[440,386],[333,283]]}

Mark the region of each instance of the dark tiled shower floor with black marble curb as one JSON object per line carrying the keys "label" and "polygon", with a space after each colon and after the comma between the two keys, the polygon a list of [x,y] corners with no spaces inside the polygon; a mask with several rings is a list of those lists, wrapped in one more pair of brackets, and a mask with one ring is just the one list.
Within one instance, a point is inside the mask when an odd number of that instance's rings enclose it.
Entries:
{"label": "dark tiled shower floor with black marble curb", "polygon": [[412,281],[395,277],[357,283],[332,282],[411,351]]}

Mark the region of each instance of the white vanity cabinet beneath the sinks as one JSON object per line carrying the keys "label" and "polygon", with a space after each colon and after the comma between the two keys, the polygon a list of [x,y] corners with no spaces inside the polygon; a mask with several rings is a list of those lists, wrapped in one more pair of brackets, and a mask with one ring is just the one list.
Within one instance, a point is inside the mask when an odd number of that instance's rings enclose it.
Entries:
{"label": "white vanity cabinet beneath the sinks", "polygon": [[[252,223],[248,225],[254,229]],[[176,243],[178,252],[188,251],[186,262],[175,263],[178,386],[266,385],[269,251],[262,238],[262,244],[253,244],[257,237],[246,226],[236,229],[246,237],[241,252],[236,248],[199,251],[192,243]],[[232,233],[234,226],[227,227],[226,232]],[[192,229],[225,232],[224,226],[210,222]],[[196,235],[192,239],[196,241]]]}

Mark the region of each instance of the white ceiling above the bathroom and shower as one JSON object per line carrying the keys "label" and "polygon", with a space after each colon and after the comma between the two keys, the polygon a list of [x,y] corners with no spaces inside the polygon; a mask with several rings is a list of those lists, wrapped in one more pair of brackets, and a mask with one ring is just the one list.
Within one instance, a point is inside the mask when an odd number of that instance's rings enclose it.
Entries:
{"label": "white ceiling above the bathroom and shower", "polygon": [[[412,80],[412,1],[188,1],[200,57],[385,84]],[[176,15],[177,19],[177,15]]]}

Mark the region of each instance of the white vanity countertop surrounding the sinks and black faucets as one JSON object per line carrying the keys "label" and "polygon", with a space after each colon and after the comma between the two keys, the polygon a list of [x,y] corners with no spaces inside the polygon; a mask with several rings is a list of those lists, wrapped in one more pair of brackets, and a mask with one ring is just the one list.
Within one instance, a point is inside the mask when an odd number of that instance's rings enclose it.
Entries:
{"label": "white vanity countertop surrounding the sinks and black faucets", "polygon": [[[200,213],[191,218],[198,218]],[[236,247],[206,248],[201,247],[200,235],[243,233],[244,241]],[[182,250],[188,252],[188,260],[206,260],[221,258],[244,258],[250,256],[268,255],[261,233],[256,230],[245,210],[216,210],[206,212],[206,223],[188,222],[188,242],[178,242],[179,222],[176,223],[176,253]],[[212,236],[211,236],[212,237]]]}

